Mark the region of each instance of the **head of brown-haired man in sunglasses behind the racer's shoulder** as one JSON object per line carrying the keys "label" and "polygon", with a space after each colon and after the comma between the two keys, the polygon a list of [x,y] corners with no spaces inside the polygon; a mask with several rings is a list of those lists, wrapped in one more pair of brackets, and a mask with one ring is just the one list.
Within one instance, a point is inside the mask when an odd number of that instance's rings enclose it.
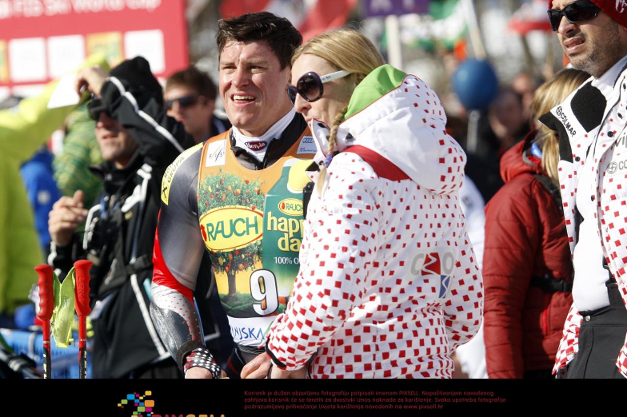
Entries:
{"label": "head of brown-haired man in sunglasses behind the racer's shoulder", "polygon": [[226,118],[214,114],[217,95],[218,89],[209,75],[190,66],[166,81],[167,115],[181,122],[196,143],[204,142],[231,127]]}

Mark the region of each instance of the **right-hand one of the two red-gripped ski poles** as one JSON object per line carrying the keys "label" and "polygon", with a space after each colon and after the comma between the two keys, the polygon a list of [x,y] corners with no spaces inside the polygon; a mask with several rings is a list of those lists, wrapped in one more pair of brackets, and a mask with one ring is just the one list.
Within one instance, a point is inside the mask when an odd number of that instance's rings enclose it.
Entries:
{"label": "right-hand one of the two red-gripped ski poles", "polygon": [[89,269],[92,262],[77,260],[74,262],[76,276],[74,306],[78,314],[78,378],[87,378],[87,316],[92,309],[89,306]]}

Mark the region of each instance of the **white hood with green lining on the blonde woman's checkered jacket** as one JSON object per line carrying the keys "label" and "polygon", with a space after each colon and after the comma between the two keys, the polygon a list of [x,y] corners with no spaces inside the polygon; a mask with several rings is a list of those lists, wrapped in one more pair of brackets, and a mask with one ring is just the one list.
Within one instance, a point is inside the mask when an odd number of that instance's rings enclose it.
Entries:
{"label": "white hood with green lining on the blonde woman's checkered jacket", "polygon": [[[388,64],[372,71],[350,97],[335,150],[361,145],[378,153],[433,192],[448,193],[463,182],[466,155],[446,133],[446,115],[435,91]],[[319,153],[327,157],[324,123],[312,121]]]}

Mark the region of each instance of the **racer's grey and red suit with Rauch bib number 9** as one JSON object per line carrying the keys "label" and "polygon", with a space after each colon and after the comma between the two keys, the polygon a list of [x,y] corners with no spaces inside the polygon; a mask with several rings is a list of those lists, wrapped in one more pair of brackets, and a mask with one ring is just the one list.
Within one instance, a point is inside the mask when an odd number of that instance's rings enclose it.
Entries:
{"label": "racer's grey and red suit with Rauch bib number 9", "polygon": [[200,275],[214,275],[237,346],[229,376],[261,353],[285,309],[298,272],[304,172],[315,153],[305,129],[295,115],[261,161],[236,147],[229,131],[182,153],[164,175],[151,314],[182,369],[197,366],[192,351],[211,361],[191,297],[204,248],[212,266]]}

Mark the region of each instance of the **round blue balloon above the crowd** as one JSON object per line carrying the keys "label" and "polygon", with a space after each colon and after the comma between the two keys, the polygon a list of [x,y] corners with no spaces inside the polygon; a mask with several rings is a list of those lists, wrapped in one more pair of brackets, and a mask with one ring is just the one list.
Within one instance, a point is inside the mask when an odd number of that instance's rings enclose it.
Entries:
{"label": "round blue balloon above the crowd", "polygon": [[453,90],[468,110],[486,108],[497,96],[498,80],[488,61],[470,58],[453,74]]}

